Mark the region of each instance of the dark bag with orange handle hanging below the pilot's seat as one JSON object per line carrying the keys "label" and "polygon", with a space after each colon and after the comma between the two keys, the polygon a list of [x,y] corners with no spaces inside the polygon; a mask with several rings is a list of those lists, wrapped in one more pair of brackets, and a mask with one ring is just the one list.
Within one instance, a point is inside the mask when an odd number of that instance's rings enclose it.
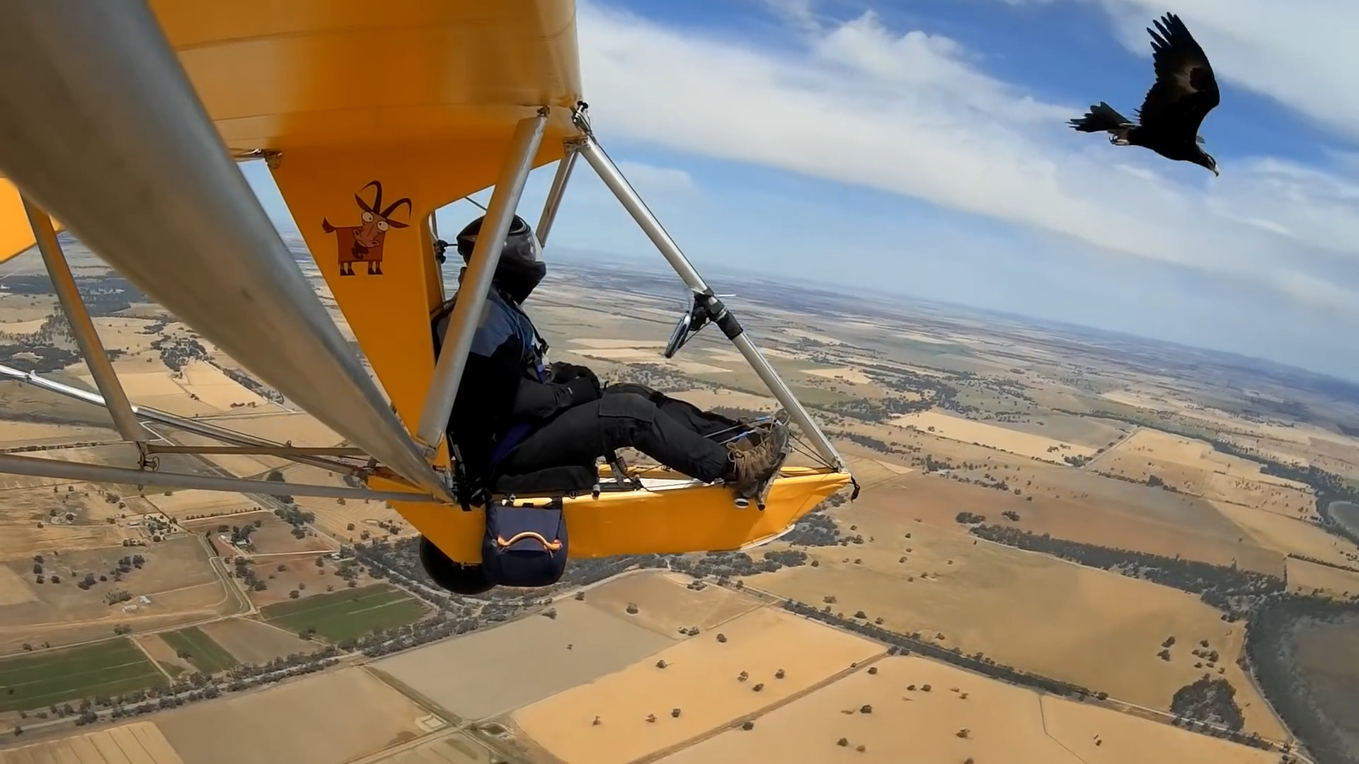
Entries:
{"label": "dark bag with orange handle hanging below the pilot's seat", "polygon": [[561,499],[545,507],[487,506],[481,564],[499,586],[550,586],[567,570],[567,518]]}

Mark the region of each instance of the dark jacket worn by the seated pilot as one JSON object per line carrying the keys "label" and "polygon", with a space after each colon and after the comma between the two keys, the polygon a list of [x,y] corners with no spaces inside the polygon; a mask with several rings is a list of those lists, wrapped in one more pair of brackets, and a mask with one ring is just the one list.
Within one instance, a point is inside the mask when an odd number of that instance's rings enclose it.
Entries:
{"label": "dark jacket worn by the seated pilot", "polygon": [[[436,359],[455,299],[434,315]],[[492,288],[448,417],[448,438],[469,477],[485,477],[510,449],[572,405],[571,387],[549,381],[545,351],[529,315]]]}

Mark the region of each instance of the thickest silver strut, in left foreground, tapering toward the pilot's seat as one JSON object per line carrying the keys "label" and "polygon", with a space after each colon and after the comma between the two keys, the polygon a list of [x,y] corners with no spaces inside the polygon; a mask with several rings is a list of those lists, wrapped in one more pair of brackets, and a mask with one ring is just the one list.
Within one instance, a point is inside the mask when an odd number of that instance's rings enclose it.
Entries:
{"label": "thickest silver strut, in left foreground, tapering toward the pilot's seat", "polygon": [[330,319],[145,0],[0,3],[0,173],[141,291],[385,466],[446,480]]}

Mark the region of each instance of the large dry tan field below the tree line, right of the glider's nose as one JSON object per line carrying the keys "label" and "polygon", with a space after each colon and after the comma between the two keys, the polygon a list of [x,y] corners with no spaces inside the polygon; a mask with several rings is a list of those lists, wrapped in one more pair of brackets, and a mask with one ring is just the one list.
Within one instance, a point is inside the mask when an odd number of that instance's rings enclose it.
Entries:
{"label": "large dry tan field below the tree line, right of the glider's nose", "polygon": [[[1121,700],[1167,710],[1177,689],[1205,666],[1188,651],[1158,657],[1162,642],[1208,640],[1237,655],[1243,627],[1229,624],[1196,597],[1150,582],[1093,570],[977,540],[958,530],[851,507],[841,523],[881,541],[853,551],[818,549],[819,567],[788,568],[749,579],[750,586],[821,606],[898,633],[920,632],[964,654],[1065,680]],[[911,538],[905,538],[911,533]],[[906,552],[906,549],[911,552]],[[848,559],[845,557],[848,556]],[[906,561],[900,561],[905,557]],[[859,563],[855,563],[859,560]],[[1113,651],[1118,661],[1109,661]],[[1195,666],[1199,663],[1199,666]],[[1238,688],[1248,727],[1280,735],[1277,723],[1230,659],[1223,676]]]}

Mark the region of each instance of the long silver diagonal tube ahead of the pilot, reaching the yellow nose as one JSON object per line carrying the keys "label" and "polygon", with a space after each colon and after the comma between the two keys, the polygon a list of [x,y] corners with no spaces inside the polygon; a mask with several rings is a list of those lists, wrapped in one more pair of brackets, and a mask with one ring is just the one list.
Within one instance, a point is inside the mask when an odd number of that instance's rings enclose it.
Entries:
{"label": "long silver diagonal tube ahead of the pilot, reaching the yellow nose", "polygon": [[[647,204],[641,201],[641,197],[637,196],[637,192],[622,175],[617,164],[613,163],[613,159],[609,159],[609,155],[605,154],[603,148],[593,135],[586,135],[586,140],[580,143],[578,151],[584,155],[586,162],[594,167],[594,171],[599,175],[599,179],[609,186],[609,190],[618,197],[618,201],[628,209],[632,219],[637,222],[641,231],[647,234],[651,243],[656,245],[660,254],[670,261],[670,266],[675,269],[675,273],[680,275],[684,283],[694,292],[711,295],[712,290],[708,288],[703,276],[694,271],[689,258],[680,250],[680,245],[670,238],[670,234],[667,234],[660,226],[660,222],[656,220],[656,216],[647,208]],[[750,340],[749,333],[742,330],[741,334],[731,338],[731,343],[738,351],[741,351],[741,355],[746,358],[746,363],[749,363],[750,368],[760,375],[760,379],[764,381],[766,387],[769,387],[769,392],[788,412],[792,420],[802,430],[803,435],[811,440],[811,447],[817,450],[821,458],[834,465],[836,469],[844,470],[845,462],[840,455],[840,451],[836,450],[834,445],[830,443],[826,435],[811,419],[811,415],[807,413],[807,409],[803,408],[802,401],[792,394],[788,385],[784,383],[783,378],[779,377],[779,372],[775,371],[773,366],[771,366],[764,358],[760,348],[757,348]]]}

